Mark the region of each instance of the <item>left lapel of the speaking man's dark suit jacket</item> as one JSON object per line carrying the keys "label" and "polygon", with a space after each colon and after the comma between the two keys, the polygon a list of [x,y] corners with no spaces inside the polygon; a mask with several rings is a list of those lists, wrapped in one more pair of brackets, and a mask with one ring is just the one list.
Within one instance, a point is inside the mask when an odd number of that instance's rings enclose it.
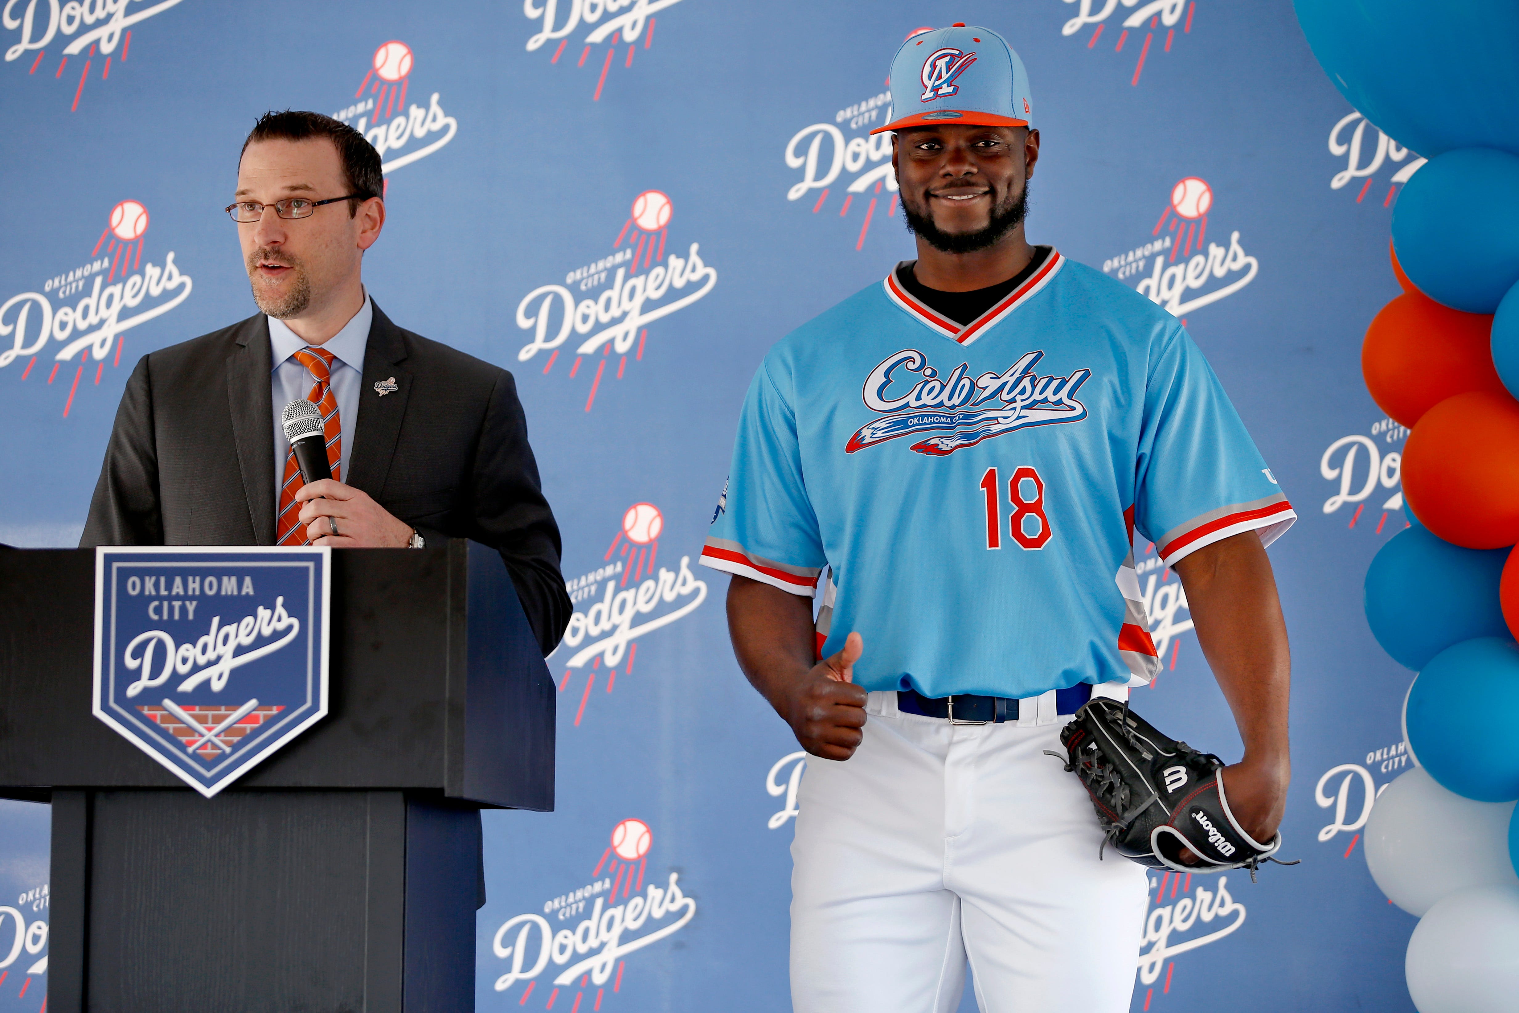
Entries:
{"label": "left lapel of the speaking man's dark suit jacket", "polygon": [[275,542],[275,416],[269,372],[269,320],[263,313],[243,320],[226,357],[226,398],[232,439],[243,474],[243,494],[258,545]]}

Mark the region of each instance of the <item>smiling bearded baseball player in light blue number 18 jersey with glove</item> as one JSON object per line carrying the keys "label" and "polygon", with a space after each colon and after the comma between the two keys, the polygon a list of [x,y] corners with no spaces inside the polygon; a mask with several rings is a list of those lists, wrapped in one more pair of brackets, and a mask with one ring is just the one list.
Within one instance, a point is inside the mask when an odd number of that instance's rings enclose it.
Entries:
{"label": "smiling bearded baseball player in light blue number 18 jersey with glove", "polygon": [[[1296,515],[1179,322],[1025,238],[1039,131],[1007,43],[914,35],[890,88],[917,260],[764,357],[702,556],[732,574],[740,667],[819,758],[791,996],[954,1010],[969,960],[981,1010],[1118,1013],[1136,861],[1253,873],[1279,843],[1288,647],[1265,545]],[[1236,764],[1123,705],[1161,667],[1136,533],[1182,579]],[[1141,762],[1154,776],[1123,784]],[[1121,849],[1147,805],[1153,837]]]}

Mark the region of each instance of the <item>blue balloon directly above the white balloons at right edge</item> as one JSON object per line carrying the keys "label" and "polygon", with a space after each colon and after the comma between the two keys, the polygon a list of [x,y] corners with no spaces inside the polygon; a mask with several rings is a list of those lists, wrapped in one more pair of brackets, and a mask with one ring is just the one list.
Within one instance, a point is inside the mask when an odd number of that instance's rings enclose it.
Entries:
{"label": "blue balloon directly above the white balloons at right edge", "polygon": [[1480,636],[1435,655],[1408,691],[1404,723],[1419,765],[1446,790],[1519,799],[1519,644]]}

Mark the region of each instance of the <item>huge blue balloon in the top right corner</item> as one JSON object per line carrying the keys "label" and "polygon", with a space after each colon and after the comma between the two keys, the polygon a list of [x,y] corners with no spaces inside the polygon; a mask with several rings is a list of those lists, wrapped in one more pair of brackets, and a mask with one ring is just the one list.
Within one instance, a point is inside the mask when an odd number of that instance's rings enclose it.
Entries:
{"label": "huge blue balloon in the top right corner", "polygon": [[1519,153],[1519,5],[1513,0],[1293,0],[1329,80],[1420,155]]}

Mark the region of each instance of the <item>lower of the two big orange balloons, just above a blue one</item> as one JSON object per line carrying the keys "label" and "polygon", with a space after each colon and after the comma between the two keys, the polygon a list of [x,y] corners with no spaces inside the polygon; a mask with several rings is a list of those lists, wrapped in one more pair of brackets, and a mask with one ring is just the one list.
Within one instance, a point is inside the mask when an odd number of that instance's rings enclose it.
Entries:
{"label": "lower of the two big orange balloons, just above a blue one", "polygon": [[1434,406],[1404,443],[1402,477],[1435,536],[1466,548],[1519,542],[1519,401],[1475,390]]}

